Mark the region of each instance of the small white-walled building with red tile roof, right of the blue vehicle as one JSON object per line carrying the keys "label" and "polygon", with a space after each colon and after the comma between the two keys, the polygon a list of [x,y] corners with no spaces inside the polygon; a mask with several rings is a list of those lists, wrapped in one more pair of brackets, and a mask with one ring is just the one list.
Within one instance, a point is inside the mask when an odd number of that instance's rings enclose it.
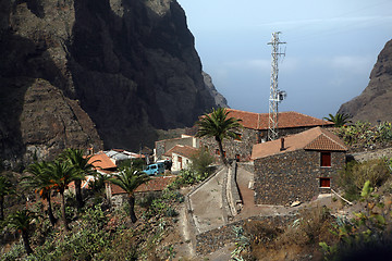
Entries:
{"label": "small white-walled building with red tile roof, right of the blue vehicle", "polygon": [[163,157],[172,161],[171,171],[176,172],[186,169],[192,163],[192,157],[196,154],[198,149],[186,146],[176,145],[167,151]]}

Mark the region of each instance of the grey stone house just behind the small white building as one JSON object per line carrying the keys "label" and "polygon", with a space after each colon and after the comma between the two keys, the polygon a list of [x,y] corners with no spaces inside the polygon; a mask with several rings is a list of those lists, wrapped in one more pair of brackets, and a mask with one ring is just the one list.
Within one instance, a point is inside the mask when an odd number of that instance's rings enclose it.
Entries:
{"label": "grey stone house just behind the small white building", "polygon": [[185,134],[181,135],[180,138],[158,140],[155,144],[155,161],[167,159],[167,157],[163,157],[163,154],[170,149],[174,148],[176,145],[183,145],[198,149],[200,147],[200,141],[198,138]]}

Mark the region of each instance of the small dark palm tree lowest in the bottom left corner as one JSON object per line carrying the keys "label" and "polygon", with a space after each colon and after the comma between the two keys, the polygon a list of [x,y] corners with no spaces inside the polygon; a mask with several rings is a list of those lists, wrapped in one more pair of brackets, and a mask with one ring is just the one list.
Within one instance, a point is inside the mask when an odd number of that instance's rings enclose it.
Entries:
{"label": "small dark palm tree lowest in the bottom left corner", "polygon": [[27,256],[33,253],[33,249],[28,241],[28,231],[30,228],[32,221],[36,217],[34,212],[28,210],[16,211],[16,213],[10,214],[8,217],[8,226],[22,233],[22,239],[27,252]]}

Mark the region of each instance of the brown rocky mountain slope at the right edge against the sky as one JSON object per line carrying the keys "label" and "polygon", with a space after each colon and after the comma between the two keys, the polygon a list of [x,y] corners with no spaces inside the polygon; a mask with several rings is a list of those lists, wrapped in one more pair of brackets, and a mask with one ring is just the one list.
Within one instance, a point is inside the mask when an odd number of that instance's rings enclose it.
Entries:
{"label": "brown rocky mountain slope at the right edge against the sky", "polygon": [[378,55],[369,85],[353,100],[341,105],[339,113],[353,115],[352,121],[392,122],[392,40]]}

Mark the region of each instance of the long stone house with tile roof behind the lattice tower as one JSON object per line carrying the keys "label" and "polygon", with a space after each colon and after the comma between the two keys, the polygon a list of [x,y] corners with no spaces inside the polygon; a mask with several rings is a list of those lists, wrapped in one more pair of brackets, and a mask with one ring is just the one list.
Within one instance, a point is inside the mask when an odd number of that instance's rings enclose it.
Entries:
{"label": "long stone house with tile roof behind the lattice tower", "polygon": [[[246,112],[234,109],[226,109],[229,116],[242,120],[243,129],[240,133],[241,139],[225,139],[223,141],[224,153],[228,159],[237,161],[250,160],[253,146],[267,140],[268,137],[268,113]],[[286,136],[297,134],[306,129],[323,126],[333,126],[333,123],[319,120],[299,112],[279,113],[279,135]],[[213,138],[201,138],[200,146],[205,146],[211,153],[219,156],[217,141]]]}

